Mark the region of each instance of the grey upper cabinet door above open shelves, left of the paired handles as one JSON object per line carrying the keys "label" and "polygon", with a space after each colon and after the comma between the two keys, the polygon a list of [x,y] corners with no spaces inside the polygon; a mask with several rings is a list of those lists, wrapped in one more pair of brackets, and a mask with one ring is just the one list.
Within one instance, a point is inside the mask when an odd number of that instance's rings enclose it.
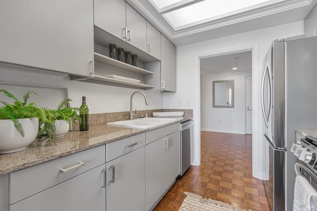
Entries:
{"label": "grey upper cabinet door above open shelves, left of the paired handles", "polygon": [[125,41],[125,1],[94,0],[95,26]]}

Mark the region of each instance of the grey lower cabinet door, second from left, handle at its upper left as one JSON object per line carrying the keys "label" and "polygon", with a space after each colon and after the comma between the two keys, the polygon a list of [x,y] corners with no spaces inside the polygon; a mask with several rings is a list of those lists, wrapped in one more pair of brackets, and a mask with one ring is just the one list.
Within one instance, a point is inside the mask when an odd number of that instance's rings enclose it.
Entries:
{"label": "grey lower cabinet door, second from left, handle at its upper left", "polygon": [[106,210],[145,211],[145,147],[106,163]]}

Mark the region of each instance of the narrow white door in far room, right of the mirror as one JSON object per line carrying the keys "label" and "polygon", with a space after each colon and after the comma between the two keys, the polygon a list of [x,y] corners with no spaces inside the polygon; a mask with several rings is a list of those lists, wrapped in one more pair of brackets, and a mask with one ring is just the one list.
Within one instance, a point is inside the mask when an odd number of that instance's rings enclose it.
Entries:
{"label": "narrow white door in far room, right of the mirror", "polygon": [[252,134],[252,76],[246,77],[246,133]]}

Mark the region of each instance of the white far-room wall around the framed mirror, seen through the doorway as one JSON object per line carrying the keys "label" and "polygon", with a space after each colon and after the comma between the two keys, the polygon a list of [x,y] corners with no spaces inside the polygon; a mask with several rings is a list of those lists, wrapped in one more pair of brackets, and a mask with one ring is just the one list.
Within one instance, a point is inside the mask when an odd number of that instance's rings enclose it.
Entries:
{"label": "white far-room wall around the framed mirror, seen through the doorway", "polygon": [[[245,77],[249,73],[201,76],[201,130],[245,134]],[[212,107],[212,81],[234,80],[234,108]]]}

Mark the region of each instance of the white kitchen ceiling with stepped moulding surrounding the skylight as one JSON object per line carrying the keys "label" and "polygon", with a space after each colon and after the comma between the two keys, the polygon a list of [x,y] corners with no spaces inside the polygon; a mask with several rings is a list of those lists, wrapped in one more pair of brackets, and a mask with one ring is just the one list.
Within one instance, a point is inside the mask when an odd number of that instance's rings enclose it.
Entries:
{"label": "white kitchen ceiling with stepped moulding surrounding the skylight", "polygon": [[150,2],[152,0],[126,1],[177,46],[304,20],[317,2],[317,0],[268,0],[194,24],[175,27],[164,18],[163,14],[175,7],[182,8],[204,0],[172,0],[174,3],[172,6],[162,4],[161,9],[156,8]]}

